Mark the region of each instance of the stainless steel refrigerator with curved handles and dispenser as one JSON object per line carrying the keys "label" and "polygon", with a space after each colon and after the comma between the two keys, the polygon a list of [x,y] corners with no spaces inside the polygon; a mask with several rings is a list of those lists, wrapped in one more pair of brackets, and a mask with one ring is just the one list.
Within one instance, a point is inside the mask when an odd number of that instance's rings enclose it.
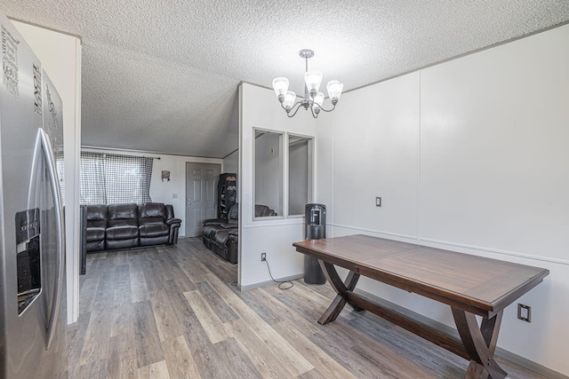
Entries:
{"label": "stainless steel refrigerator with curved handles and dispenser", "polygon": [[67,377],[62,103],[0,24],[0,378]]}

